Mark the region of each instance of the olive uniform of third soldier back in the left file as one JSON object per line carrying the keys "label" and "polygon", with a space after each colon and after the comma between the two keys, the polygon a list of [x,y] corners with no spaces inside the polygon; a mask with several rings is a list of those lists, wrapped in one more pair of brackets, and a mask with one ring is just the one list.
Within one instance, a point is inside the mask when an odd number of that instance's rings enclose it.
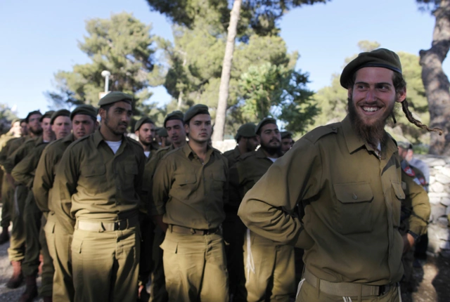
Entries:
{"label": "olive uniform of third soldier back in the left file", "polygon": [[[34,147],[27,157],[15,165],[11,175],[17,183],[25,185],[28,189],[28,195],[25,202],[23,219],[25,224],[25,258],[22,263],[23,274],[26,276],[36,276],[39,268],[39,254],[42,249],[44,256],[44,265],[42,267],[42,283],[39,288],[41,296],[51,296],[53,280],[53,264],[49,255],[44,233],[41,232],[41,225],[45,225],[45,217],[42,218],[42,212],[37,207],[32,192],[34,172],[36,171],[39,158],[42,151],[48,145],[41,141]],[[44,219],[43,221],[41,221]]]}

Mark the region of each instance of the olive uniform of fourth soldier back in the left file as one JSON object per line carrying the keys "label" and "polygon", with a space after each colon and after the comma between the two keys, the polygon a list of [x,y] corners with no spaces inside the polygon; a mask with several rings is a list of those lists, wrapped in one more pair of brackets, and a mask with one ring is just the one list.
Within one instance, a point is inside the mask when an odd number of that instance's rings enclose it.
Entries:
{"label": "olive uniform of fourth soldier back in the left file", "polygon": [[[15,165],[27,157],[34,148],[43,143],[41,136],[37,138],[18,138],[11,143],[10,150],[14,150],[8,155],[4,163],[6,173],[11,174]],[[22,261],[25,258],[25,223],[24,211],[25,202],[30,190],[26,185],[18,184],[15,187],[13,195],[13,209],[11,218],[13,221],[13,230],[11,231],[8,256],[10,261]]]}

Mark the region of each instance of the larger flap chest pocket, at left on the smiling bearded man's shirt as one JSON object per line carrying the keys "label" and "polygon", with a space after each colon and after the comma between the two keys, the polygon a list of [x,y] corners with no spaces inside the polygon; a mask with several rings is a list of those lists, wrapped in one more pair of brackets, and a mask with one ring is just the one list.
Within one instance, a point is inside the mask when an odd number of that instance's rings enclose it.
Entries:
{"label": "larger flap chest pocket, at left on the smiling bearded man's shirt", "polygon": [[333,185],[337,201],[338,231],[345,234],[371,232],[373,192],[369,183],[338,183]]}

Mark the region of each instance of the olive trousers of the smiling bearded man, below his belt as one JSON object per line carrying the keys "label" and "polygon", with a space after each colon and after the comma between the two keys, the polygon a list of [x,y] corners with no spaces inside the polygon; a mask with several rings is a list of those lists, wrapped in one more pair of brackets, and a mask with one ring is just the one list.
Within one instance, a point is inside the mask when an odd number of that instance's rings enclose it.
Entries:
{"label": "olive trousers of the smiling bearded man, below his belt", "polygon": [[[370,273],[370,272],[368,272]],[[392,287],[390,291],[382,296],[364,296],[359,299],[357,296],[342,297],[325,294],[313,287],[307,281],[300,282],[296,302],[399,302],[400,289],[399,287]]]}

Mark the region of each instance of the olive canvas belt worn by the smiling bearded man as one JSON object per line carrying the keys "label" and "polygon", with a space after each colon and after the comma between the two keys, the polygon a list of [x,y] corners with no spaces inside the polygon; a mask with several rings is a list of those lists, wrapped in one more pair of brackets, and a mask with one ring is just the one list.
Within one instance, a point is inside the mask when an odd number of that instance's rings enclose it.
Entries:
{"label": "olive canvas belt worn by the smiling bearded man", "polygon": [[326,294],[345,297],[359,295],[382,296],[387,293],[387,291],[390,291],[392,287],[397,287],[397,284],[375,286],[352,282],[328,282],[312,275],[306,268],[304,269],[303,278],[311,284],[311,286],[316,288],[319,282],[319,289]]}

